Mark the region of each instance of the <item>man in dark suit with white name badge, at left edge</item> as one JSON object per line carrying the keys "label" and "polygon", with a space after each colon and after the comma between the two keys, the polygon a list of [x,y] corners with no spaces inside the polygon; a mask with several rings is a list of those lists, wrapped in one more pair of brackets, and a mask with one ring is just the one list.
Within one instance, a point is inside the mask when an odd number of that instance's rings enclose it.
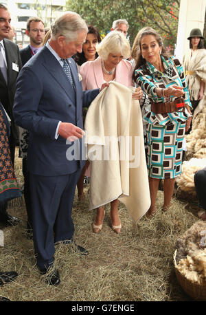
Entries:
{"label": "man in dark suit with white name badge, at left edge", "polygon": [[[19,47],[6,39],[10,32],[11,17],[8,9],[0,3],[0,101],[11,119],[11,134],[9,139],[12,163],[14,164],[15,145],[19,140],[19,133],[12,115],[16,78],[21,69]],[[1,207],[0,222],[5,225],[14,225],[19,220],[8,215],[7,204]]]}

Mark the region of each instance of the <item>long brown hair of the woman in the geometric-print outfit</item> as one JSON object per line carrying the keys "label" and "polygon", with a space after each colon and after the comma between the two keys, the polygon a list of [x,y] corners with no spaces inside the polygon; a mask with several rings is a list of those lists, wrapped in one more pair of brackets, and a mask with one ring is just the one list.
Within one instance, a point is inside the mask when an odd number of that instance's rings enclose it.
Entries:
{"label": "long brown hair of the woman in the geometric-print outfit", "polygon": [[168,52],[165,50],[165,47],[163,45],[163,40],[158,32],[156,32],[153,28],[146,27],[140,30],[137,33],[137,36],[135,38],[131,56],[135,59],[136,65],[133,72],[133,80],[136,80],[135,78],[135,70],[141,67],[142,65],[146,65],[146,60],[141,56],[141,39],[146,35],[153,35],[155,36],[155,39],[157,40],[157,43],[161,47],[161,55],[162,56],[168,56]]}

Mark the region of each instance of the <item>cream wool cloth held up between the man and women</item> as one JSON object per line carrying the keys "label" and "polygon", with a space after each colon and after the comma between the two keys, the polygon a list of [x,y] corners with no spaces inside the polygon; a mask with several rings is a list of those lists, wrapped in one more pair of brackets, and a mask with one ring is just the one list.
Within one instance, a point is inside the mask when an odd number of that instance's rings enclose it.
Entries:
{"label": "cream wool cloth held up between the man and women", "polygon": [[[141,109],[139,100],[132,99],[132,89],[110,82],[91,103],[84,126],[91,161],[90,210],[119,199],[137,223],[150,208],[150,190]],[[128,137],[132,141],[126,146]],[[113,139],[110,145],[106,139]],[[134,159],[126,154],[131,147]]]}

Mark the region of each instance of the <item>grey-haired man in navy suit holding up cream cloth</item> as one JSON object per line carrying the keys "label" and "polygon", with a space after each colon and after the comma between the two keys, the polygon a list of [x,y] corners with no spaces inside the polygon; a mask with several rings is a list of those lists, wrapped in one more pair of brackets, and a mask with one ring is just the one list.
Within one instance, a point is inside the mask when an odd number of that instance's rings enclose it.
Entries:
{"label": "grey-haired man in navy suit holding up cream cloth", "polygon": [[[30,131],[28,168],[36,262],[41,273],[48,274],[51,285],[60,283],[58,270],[51,268],[54,243],[73,242],[71,210],[85,163],[81,156],[67,159],[73,145],[67,143],[67,138],[79,139],[81,151],[82,105],[89,106],[100,92],[82,92],[76,63],[71,58],[82,52],[87,30],[84,20],[74,12],[56,19],[51,39],[22,68],[16,84],[14,120]],[[88,254],[81,246],[73,245],[81,254]]]}

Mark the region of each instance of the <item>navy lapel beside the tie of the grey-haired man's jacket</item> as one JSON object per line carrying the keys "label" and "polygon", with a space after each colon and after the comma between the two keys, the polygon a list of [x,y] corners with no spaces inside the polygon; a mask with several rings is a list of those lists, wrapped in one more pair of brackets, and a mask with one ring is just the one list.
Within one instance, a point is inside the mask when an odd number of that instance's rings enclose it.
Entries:
{"label": "navy lapel beside the tie of the grey-haired man's jacket", "polygon": [[62,66],[58,62],[58,60],[55,58],[55,56],[52,54],[52,52],[49,52],[47,47],[44,47],[43,50],[45,50],[45,67],[50,74],[55,78],[55,80],[58,82],[58,84],[62,87],[62,89],[65,90],[67,96],[71,99],[73,103],[76,103],[76,97],[75,97],[75,91],[73,87],[71,86],[71,83],[69,82],[69,79],[67,78],[64,70],[62,69]]}

